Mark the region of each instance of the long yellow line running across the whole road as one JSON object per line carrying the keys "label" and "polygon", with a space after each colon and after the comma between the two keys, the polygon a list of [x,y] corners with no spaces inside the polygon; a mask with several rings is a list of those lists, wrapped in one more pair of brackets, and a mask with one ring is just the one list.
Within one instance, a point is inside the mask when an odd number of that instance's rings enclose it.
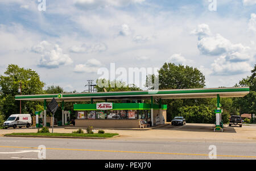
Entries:
{"label": "long yellow line running across the whole road", "polygon": [[[11,147],[0,146],[0,148],[34,148],[37,147]],[[115,153],[142,153],[142,154],[156,154],[156,155],[185,155],[185,156],[209,156],[208,154],[196,154],[196,153],[167,153],[167,152],[139,152],[139,151],[113,151],[113,150],[101,150],[101,149],[69,149],[69,148],[46,148],[55,150],[67,150],[67,151],[88,151],[88,152],[115,152]],[[238,156],[238,155],[216,155],[217,157],[242,157],[242,158],[254,158],[256,156]]]}

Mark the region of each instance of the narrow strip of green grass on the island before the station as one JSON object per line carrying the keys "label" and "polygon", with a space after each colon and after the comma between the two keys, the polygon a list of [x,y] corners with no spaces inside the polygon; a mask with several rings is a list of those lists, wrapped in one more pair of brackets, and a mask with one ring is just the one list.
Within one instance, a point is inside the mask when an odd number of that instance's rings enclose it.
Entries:
{"label": "narrow strip of green grass on the island before the station", "polygon": [[105,134],[73,134],[73,133],[12,133],[5,135],[31,135],[31,136],[80,136],[80,137],[113,137],[119,135],[117,133],[105,133]]}

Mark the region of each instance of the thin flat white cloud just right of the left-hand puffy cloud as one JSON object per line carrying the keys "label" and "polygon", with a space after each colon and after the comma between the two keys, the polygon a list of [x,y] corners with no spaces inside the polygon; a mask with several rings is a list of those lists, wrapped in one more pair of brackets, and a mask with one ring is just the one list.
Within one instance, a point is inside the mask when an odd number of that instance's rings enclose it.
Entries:
{"label": "thin flat white cloud just right of the left-hand puffy cloud", "polygon": [[73,53],[98,53],[104,52],[108,49],[108,47],[104,43],[97,43],[90,45],[89,47],[86,44],[82,45],[73,45],[69,51]]}

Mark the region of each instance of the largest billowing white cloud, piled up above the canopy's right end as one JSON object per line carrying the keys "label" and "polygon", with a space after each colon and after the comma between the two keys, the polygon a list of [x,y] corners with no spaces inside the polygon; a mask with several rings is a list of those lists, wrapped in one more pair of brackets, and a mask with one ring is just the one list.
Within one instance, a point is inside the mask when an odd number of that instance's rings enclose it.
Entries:
{"label": "largest billowing white cloud, piled up above the canopy's right end", "polygon": [[250,72],[250,62],[254,60],[255,54],[250,47],[241,43],[233,44],[220,34],[213,36],[207,24],[200,24],[192,34],[198,36],[197,48],[201,54],[221,55],[211,64],[212,71],[207,71],[208,74],[225,76]]}

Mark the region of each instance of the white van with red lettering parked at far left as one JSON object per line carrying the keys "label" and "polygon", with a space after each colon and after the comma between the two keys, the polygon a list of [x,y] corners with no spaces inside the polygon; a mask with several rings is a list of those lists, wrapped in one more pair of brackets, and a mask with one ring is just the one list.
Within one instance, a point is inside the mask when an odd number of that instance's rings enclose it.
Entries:
{"label": "white van with red lettering parked at far left", "polygon": [[26,126],[31,127],[32,125],[32,118],[30,114],[13,114],[9,116],[9,118],[6,120],[6,122],[3,123],[3,127],[9,128],[9,127],[24,127]]}

